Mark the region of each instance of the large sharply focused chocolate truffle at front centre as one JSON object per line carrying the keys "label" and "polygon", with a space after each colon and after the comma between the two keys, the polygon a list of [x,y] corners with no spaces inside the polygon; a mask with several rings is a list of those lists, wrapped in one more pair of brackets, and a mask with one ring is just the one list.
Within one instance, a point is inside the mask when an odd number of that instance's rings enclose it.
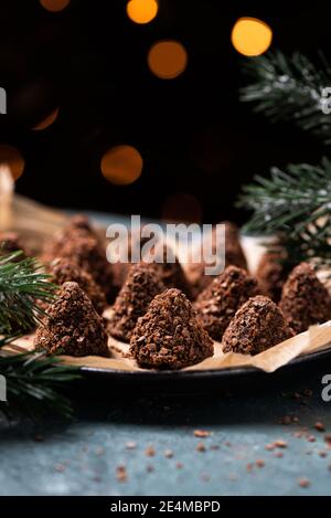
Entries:
{"label": "large sharply focused chocolate truffle at front centre", "polygon": [[213,340],[179,289],[167,289],[149,305],[135,327],[130,351],[140,367],[182,369],[213,356]]}

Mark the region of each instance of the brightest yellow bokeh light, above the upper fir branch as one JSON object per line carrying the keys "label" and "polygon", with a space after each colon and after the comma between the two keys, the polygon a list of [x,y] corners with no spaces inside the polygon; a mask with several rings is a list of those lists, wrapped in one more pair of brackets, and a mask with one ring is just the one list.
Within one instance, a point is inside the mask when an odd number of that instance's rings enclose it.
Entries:
{"label": "brightest yellow bokeh light, above the upper fir branch", "polygon": [[254,56],[266,52],[273,40],[269,25],[256,18],[239,18],[234,24],[231,41],[237,52]]}

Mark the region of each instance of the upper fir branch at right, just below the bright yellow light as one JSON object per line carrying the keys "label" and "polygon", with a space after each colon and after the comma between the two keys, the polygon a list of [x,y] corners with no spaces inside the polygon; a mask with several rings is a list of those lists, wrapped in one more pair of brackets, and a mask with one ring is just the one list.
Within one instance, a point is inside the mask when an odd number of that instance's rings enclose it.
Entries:
{"label": "upper fir branch at right, just below the bright yellow light", "polygon": [[254,102],[255,110],[273,121],[291,120],[330,145],[331,115],[322,109],[330,108],[324,88],[331,86],[331,68],[320,57],[320,68],[299,52],[290,57],[276,51],[249,59],[244,71],[252,84],[241,89],[241,99]]}

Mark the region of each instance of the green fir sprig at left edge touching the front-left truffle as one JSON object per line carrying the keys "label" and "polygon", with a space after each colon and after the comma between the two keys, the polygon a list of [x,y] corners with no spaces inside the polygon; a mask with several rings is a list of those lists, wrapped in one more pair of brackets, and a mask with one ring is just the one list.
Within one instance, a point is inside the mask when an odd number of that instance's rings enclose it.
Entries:
{"label": "green fir sprig at left edge touching the front-left truffle", "polygon": [[7,341],[40,321],[44,311],[38,300],[51,302],[56,289],[35,258],[18,261],[20,255],[14,252],[0,257],[0,335]]}

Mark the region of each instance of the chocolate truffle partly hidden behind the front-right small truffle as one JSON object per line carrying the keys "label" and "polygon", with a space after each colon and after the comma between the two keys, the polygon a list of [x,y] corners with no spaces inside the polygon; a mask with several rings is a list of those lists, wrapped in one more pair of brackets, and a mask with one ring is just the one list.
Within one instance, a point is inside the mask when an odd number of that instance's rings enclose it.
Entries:
{"label": "chocolate truffle partly hidden behind the front-right small truffle", "polygon": [[245,269],[227,266],[199,295],[195,309],[209,335],[221,341],[237,309],[257,294],[257,283]]}

